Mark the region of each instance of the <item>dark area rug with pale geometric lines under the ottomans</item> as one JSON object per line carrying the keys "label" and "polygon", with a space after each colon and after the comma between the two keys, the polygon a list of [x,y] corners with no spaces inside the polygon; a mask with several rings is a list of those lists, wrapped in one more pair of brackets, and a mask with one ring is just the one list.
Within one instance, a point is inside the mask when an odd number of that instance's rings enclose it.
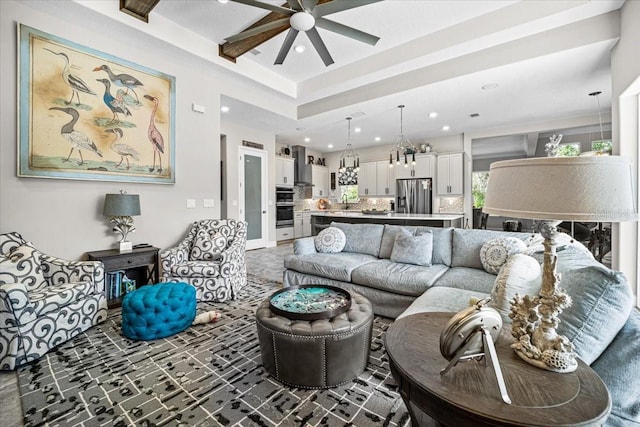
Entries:
{"label": "dark area rug with pale geometric lines under the ottomans", "polygon": [[132,341],[120,310],[18,370],[26,426],[405,426],[376,317],[369,364],[325,390],[286,387],[262,367],[254,313],[281,285],[249,277],[216,323],[165,339]]}

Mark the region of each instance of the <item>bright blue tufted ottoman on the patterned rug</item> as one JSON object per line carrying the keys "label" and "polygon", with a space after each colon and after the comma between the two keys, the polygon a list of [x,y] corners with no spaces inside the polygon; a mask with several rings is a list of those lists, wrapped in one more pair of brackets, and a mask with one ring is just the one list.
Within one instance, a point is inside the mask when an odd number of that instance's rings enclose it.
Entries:
{"label": "bright blue tufted ottoman on the patterned rug", "polygon": [[155,340],[184,331],[196,317],[196,289],[187,283],[142,286],[122,300],[122,333]]}

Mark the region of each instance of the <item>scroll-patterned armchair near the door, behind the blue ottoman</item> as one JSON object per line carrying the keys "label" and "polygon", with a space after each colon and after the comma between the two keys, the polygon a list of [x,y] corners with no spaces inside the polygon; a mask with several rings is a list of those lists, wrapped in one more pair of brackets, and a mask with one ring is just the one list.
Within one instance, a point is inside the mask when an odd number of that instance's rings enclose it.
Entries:
{"label": "scroll-patterned armchair near the door, behind the blue ottoman", "polygon": [[160,252],[163,282],[186,282],[198,301],[233,300],[247,283],[247,223],[195,221],[178,246]]}

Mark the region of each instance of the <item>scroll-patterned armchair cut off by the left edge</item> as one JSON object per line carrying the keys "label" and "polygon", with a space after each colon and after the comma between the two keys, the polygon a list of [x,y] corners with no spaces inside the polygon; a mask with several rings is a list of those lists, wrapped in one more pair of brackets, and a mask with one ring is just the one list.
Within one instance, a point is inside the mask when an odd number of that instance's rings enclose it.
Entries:
{"label": "scroll-patterned armchair cut off by the left edge", "polygon": [[107,318],[104,267],[45,255],[0,234],[0,369],[11,370]]}

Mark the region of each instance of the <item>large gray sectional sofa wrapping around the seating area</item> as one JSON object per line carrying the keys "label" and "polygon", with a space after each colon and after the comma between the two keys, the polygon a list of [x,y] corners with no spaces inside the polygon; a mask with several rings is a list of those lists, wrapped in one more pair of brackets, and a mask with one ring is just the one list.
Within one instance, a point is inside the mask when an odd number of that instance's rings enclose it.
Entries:
{"label": "large gray sectional sofa wrapping around the seating area", "polygon": [[[527,245],[539,236],[488,230],[332,223],[346,237],[338,253],[319,253],[314,237],[294,242],[285,259],[285,286],[327,284],[367,297],[374,313],[397,318],[425,311],[456,312],[471,298],[491,294],[496,275],[483,268],[489,240],[516,237]],[[404,230],[404,231],[402,231]],[[432,234],[431,265],[394,262],[396,235]],[[392,253],[394,256],[392,257]],[[528,254],[542,263],[542,247]],[[410,258],[410,257],[409,257]],[[406,260],[405,260],[406,261]],[[640,426],[640,311],[624,275],[598,263],[579,243],[558,248],[561,286],[573,299],[558,331],[607,384],[612,411],[607,426]],[[506,320],[506,319],[505,319]]]}

